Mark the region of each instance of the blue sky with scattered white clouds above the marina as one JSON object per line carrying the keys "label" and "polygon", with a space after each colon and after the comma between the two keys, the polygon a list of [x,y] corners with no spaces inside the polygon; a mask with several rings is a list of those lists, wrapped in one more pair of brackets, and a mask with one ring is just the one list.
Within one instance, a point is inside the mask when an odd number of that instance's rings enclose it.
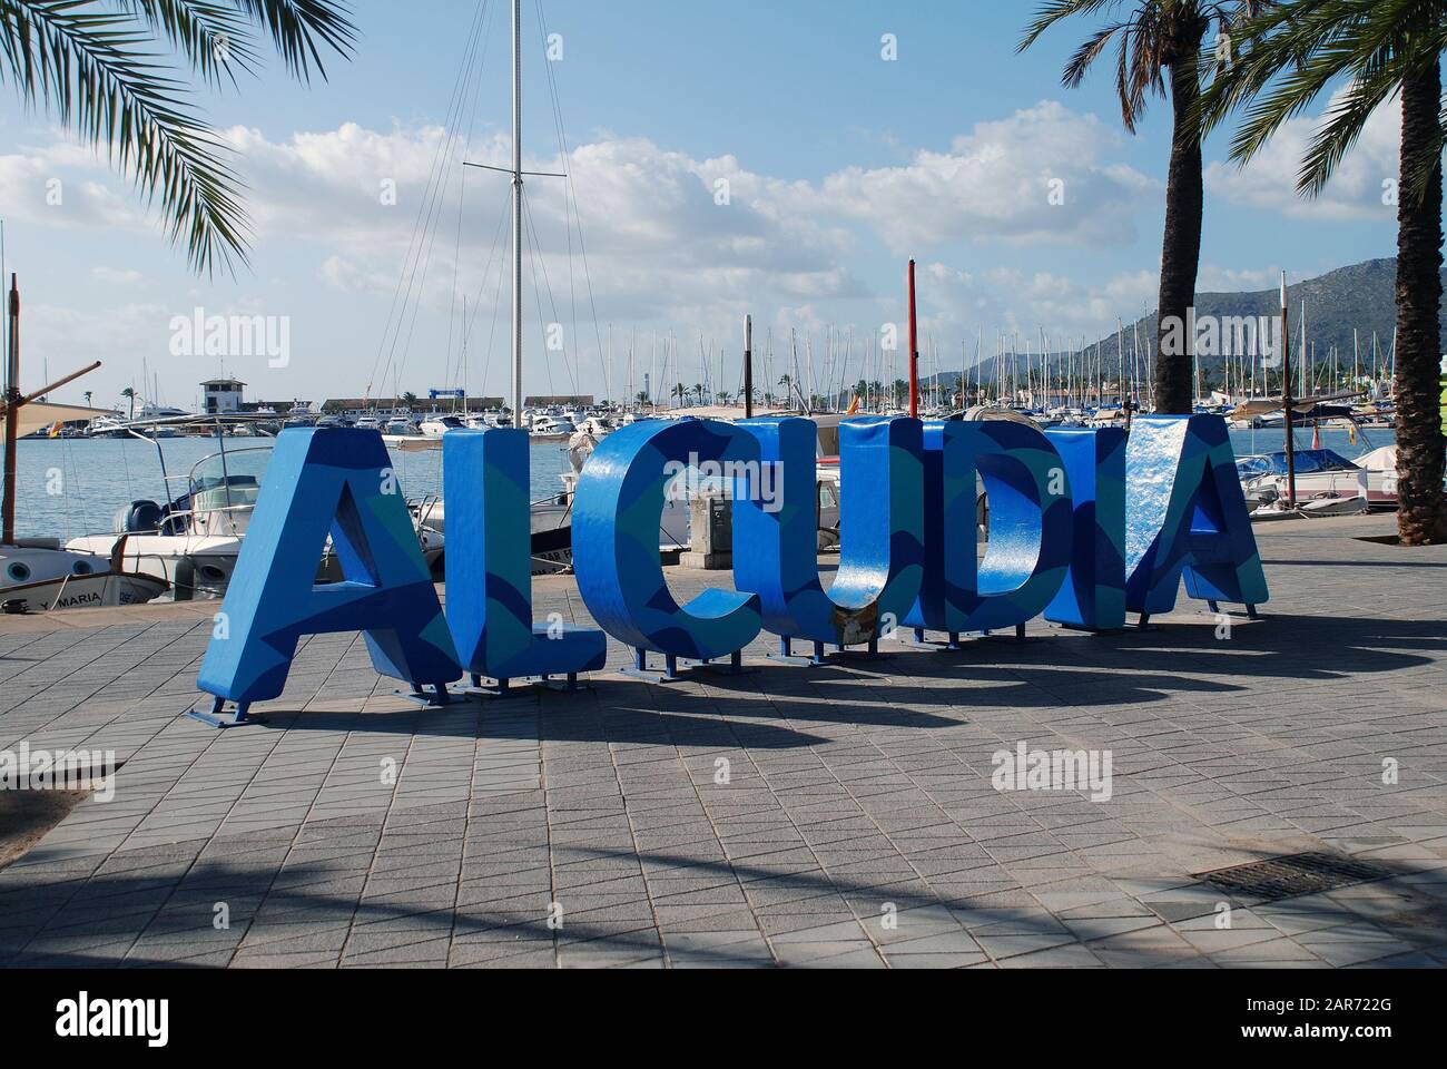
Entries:
{"label": "blue sky with scattered white clouds above the marina", "polygon": [[[547,29],[563,46],[548,62],[535,3],[524,0],[524,145],[532,165],[573,174],[587,248],[585,275],[576,245],[572,256],[567,249],[564,184],[532,183],[541,256],[528,271],[528,391],[602,394],[611,381],[625,393],[628,338],[641,388],[650,340],[670,332],[677,353],[664,369],[651,348],[655,378],[699,381],[702,348],[713,368],[724,359],[729,380],[744,311],[761,335],[773,332],[776,352],[796,330],[820,364],[825,332],[842,338],[852,327],[852,371],[841,374],[893,378],[877,338],[901,319],[912,255],[922,332],[948,368],[961,346],[974,349],[977,332],[987,351],[1000,330],[1043,329],[1058,345],[1098,338],[1117,316],[1130,322],[1153,306],[1169,109],[1153,100],[1129,136],[1108,65],[1079,90],[1059,85],[1091,22],[1066,23],[1017,55],[1033,6],[548,0]],[[506,316],[506,290],[501,307],[495,297],[505,249],[493,233],[506,180],[463,178],[459,165],[463,155],[506,158],[506,4],[489,7],[469,94],[472,141],[444,156],[440,225],[401,329],[389,309],[444,143],[473,0],[357,0],[356,58],[331,62],[330,81],[307,88],[272,64],[260,80],[243,77],[239,93],[204,97],[237,148],[258,227],[252,268],[234,280],[190,275],[123,180],[7,98],[0,216],[26,297],[26,384],[43,368],[58,375],[103,359],[106,368],[64,395],[90,388],[110,403],[135,384],[190,407],[195,382],[221,359],[178,355],[171,342],[177,319],[203,309],[285,320],[284,366],[245,346],[226,361],[253,397],[360,395],[369,384],[373,395],[394,384],[423,393],[463,378],[473,393],[505,393],[505,323],[493,322],[493,311]],[[897,41],[893,61],[881,55],[887,33]],[[1288,127],[1244,172],[1220,162],[1224,136],[1208,145],[1202,290],[1265,288],[1282,268],[1301,278],[1392,255],[1382,183],[1395,175],[1395,116],[1378,117],[1340,180],[1308,204],[1295,197],[1292,172],[1312,119]],[[61,204],[46,197],[55,180]],[[1055,180],[1062,204],[1049,201]],[[388,181],[395,204],[379,203]],[[547,277],[537,291],[534,269]],[[466,358],[463,295],[473,313]],[[548,322],[561,326],[561,351],[544,345]]]}

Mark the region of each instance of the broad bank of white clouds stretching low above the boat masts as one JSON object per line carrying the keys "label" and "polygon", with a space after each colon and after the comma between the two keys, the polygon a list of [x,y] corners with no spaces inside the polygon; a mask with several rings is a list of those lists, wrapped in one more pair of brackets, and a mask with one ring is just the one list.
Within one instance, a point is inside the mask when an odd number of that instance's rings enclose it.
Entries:
{"label": "broad bank of white clouds stretching low above the boat masts", "polygon": [[[496,353],[505,349],[505,330],[489,349],[488,319],[506,319],[508,178],[464,171],[460,161],[508,165],[505,136],[489,135],[466,151],[450,143],[436,126],[369,130],[347,123],[278,141],[256,129],[236,127],[226,136],[240,154],[237,169],[247,187],[256,267],[266,284],[243,280],[242,288],[227,284],[192,293],[187,281],[175,281],[187,278],[178,267],[169,285],[158,287],[153,297],[148,293],[155,306],[71,316],[38,306],[36,326],[54,352],[100,352],[107,338],[123,336],[127,340],[113,356],[126,366],[139,366],[140,358],[148,356],[153,369],[164,361],[165,324],[172,314],[197,304],[224,314],[229,309],[223,306],[243,303],[259,313],[292,316],[294,342],[305,352],[305,359],[297,364],[295,384],[288,380],[284,387],[259,390],[269,391],[268,395],[294,390],[323,393],[333,387],[331,378],[313,369],[334,366],[337,361],[355,365],[347,380],[353,382],[349,388],[357,390],[366,381],[373,353],[383,351],[395,349],[398,362],[411,365],[383,371],[389,382],[420,374],[451,374],[443,369],[456,366],[462,335],[449,329],[449,310],[456,310],[466,294],[476,316],[470,359],[479,366],[485,365],[486,352],[493,353],[493,364],[501,359]],[[624,332],[616,335],[615,371],[625,359],[624,335],[631,339],[635,326],[640,353],[648,352],[651,338],[645,336],[654,326],[663,333],[676,329],[673,359],[693,368],[700,361],[700,333],[710,359],[716,359],[716,348],[710,349],[716,346],[713,339],[722,339],[725,349],[737,352],[745,313],[755,316],[755,335],[773,332],[778,359],[787,352],[790,329],[802,332],[802,352],[805,335],[815,335],[818,352],[822,329],[839,323],[858,323],[858,345],[873,346],[878,324],[899,322],[903,314],[901,284],[878,293],[855,274],[862,256],[874,252],[871,239],[877,238],[891,252],[932,255],[938,261],[922,259],[920,297],[922,330],[938,338],[941,346],[972,339],[980,327],[987,335],[997,327],[1019,329],[1022,336],[1033,338],[1045,326],[1055,343],[1066,336],[1095,338],[1114,327],[1117,314],[1129,320],[1145,304],[1153,306],[1155,271],[1101,272],[1098,278],[1055,265],[1037,271],[1006,267],[961,271],[948,261],[981,261],[972,255],[965,259],[945,246],[962,242],[1129,246],[1134,240],[1136,213],[1153,211],[1159,204],[1159,184],[1110,162],[1120,142],[1120,135],[1094,116],[1042,103],[978,123],[946,151],[917,152],[906,165],[844,168],[818,181],[797,181],[751,171],[731,155],[700,159],[645,138],[599,133],[573,149],[566,161],[580,220],[570,217],[573,207],[563,180],[528,181],[528,245],[535,242],[541,251],[541,258],[530,258],[525,272],[530,329],[540,311],[544,322],[561,320],[569,332],[567,361],[573,368],[585,366],[585,384],[595,390],[601,385],[595,365],[601,361],[595,351],[593,304],[599,335],[606,336],[609,323]],[[90,167],[94,174],[81,172],[82,178],[109,183],[96,183],[97,190],[123,188],[120,180],[104,172],[103,161],[74,145],[58,146],[54,155],[43,152],[49,151],[0,156],[0,175],[7,164],[20,167],[16,159],[30,168],[32,183],[48,168]],[[450,162],[436,171],[443,175],[444,188],[431,203],[428,183],[438,161]],[[525,167],[559,171],[563,162],[532,158]],[[1051,180],[1064,183],[1062,204],[1051,203]],[[96,226],[142,226],[143,219],[130,201],[129,191],[94,201]],[[100,222],[106,219],[103,210],[124,222]],[[418,246],[414,230],[420,219],[428,225],[431,238]],[[582,223],[586,278],[577,230],[574,226],[570,232],[570,222]],[[414,258],[418,248],[423,255]],[[136,274],[104,265],[90,269],[91,280],[106,285],[135,281]],[[875,274],[870,272],[871,280]],[[543,284],[541,294],[535,293],[534,278]],[[414,322],[418,301],[423,310],[415,319],[415,338],[407,326],[399,335],[405,340],[394,346],[383,336],[385,317],[399,280],[408,294],[407,322]],[[582,335],[576,339],[574,300],[576,333]],[[103,306],[94,303],[96,309]],[[530,333],[527,345],[534,343]],[[405,355],[408,345],[411,356]],[[987,336],[987,355],[991,349]],[[530,359],[531,353],[532,349]],[[530,374],[540,378],[546,371],[563,382],[564,372],[572,374],[550,366],[554,359],[550,355],[540,352],[537,359],[540,364],[530,365]],[[641,359],[645,358],[640,355]],[[941,359],[955,362],[959,353],[946,358],[941,352]],[[197,371],[175,368],[175,381],[190,384]],[[210,366],[200,371],[214,374]],[[641,372],[640,365],[640,378]],[[488,374],[483,366],[483,377]],[[443,377],[436,380],[443,381]],[[488,384],[498,388],[496,381]]]}

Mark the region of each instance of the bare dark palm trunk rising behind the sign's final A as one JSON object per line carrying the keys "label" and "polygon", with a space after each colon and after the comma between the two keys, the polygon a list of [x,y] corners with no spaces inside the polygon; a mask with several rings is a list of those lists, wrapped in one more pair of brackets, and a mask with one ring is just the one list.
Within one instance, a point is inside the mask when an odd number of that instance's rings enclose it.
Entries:
{"label": "bare dark palm trunk rising behind the sign's final A", "polygon": [[[1201,36],[1184,42],[1182,58],[1171,64],[1171,109],[1175,129],[1171,136],[1171,172],[1166,178],[1166,229],[1160,248],[1160,297],[1156,317],[1156,411],[1191,411],[1191,353],[1195,339],[1185,330],[1187,310],[1195,304],[1195,272],[1201,261],[1201,133],[1192,119],[1201,96],[1197,52]],[[1178,332],[1162,345],[1169,324]],[[1185,345],[1176,345],[1182,338]],[[1179,352],[1176,352],[1179,349]]]}

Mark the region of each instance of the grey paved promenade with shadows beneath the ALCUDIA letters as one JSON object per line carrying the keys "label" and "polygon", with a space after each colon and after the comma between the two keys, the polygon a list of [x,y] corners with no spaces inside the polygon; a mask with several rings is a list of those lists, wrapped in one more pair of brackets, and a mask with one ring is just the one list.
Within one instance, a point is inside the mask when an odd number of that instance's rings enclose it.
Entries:
{"label": "grey paved promenade with shadows beneath the ALCUDIA letters", "polygon": [[[741,676],[441,711],[318,636],[234,731],[181,716],[216,604],[0,619],[0,750],[124,760],[0,871],[0,965],[1440,966],[1447,548],[1357,537],[1392,530],[1257,527],[1273,597],[1229,636],[1182,598],[816,669],[765,637]],[[1022,742],[1108,750],[1111,797],[997,791]],[[1301,852],[1386,878],[1197,878]]]}

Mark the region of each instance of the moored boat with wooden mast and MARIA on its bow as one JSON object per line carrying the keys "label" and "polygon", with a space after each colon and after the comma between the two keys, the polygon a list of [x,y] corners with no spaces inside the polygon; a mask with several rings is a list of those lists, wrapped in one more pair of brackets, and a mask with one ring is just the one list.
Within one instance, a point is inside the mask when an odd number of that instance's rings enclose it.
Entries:
{"label": "moored boat with wooden mast and MARIA on its bow", "polygon": [[90,419],[96,408],[48,404],[36,398],[75,381],[100,366],[91,364],[51,382],[33,394],[20,394],[20,284],[10,277],[10,345],[6,358],[4,411],[4,500],[0,503],[0,611],[43,613],[55,608],[139,605],[166,591],[169,584],[150,575],[126,572],[117,555],[75,553],[43,539],[14,536],[19,440],[29,433],[67,420]]}

